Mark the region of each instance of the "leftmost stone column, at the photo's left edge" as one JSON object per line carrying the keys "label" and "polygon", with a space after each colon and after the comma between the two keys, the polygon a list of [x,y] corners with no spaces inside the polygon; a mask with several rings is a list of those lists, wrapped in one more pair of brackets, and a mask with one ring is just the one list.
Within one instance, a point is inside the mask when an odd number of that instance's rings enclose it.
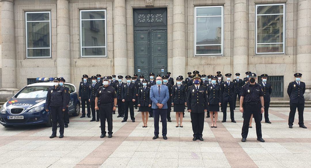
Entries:
{"label": "leftmost stone column, at the photo's left edge", "polygon": [[2,88],[16,88],[14,0],[0,0],[0,2],[2,6]]}

